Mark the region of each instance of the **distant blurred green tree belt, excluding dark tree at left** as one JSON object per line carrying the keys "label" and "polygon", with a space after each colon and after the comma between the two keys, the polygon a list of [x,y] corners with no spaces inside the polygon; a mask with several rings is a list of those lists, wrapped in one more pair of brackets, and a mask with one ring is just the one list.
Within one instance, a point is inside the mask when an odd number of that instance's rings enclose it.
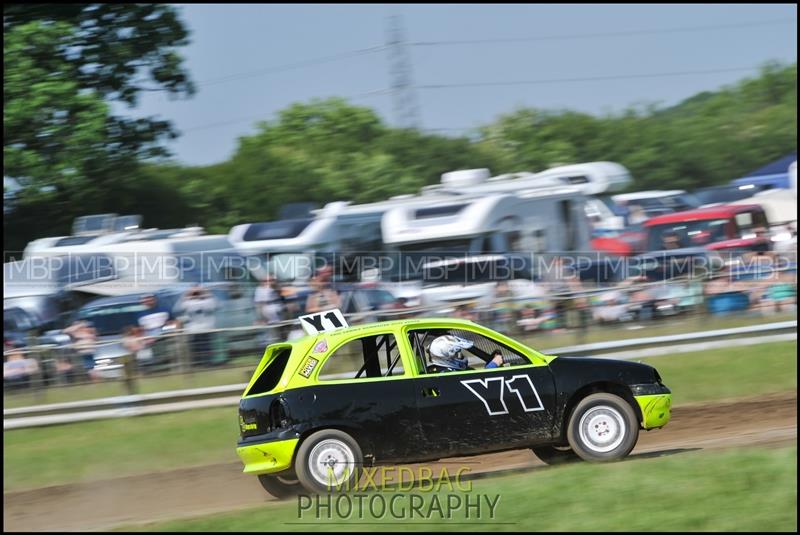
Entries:
{"label": "distant blurred green tree belt, excluding dark tree at left", "polygon": [[341,99],[294,104],[241,138],[227,162],[187,169],[184,192],[225,231],[276,217],[288,202],[379,201],[477,167],[504,173],[610,160],[631,171],[632,190],[694,189],[795,150],[796,72],[770,64],[757,78],[671,108],[602,117],[518,109],[480,128],[477,140],[390,128]]}

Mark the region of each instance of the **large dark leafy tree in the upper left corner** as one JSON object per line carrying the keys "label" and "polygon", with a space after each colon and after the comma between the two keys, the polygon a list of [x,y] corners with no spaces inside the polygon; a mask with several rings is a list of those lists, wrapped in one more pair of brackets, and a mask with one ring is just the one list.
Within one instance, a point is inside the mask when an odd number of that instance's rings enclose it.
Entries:
{"label": "large dark leafy tree in the upper left corner", "polygon": [[169,124],[114,115],[110,103],[132,106],[143,90],[190,94],[175,52],[186,37],[169,6],[4,6],[3,173],[20,188],[6,250],[66,232],[77,215],[125,211],[154,191],[174,197],[139,172],[166,155]]}

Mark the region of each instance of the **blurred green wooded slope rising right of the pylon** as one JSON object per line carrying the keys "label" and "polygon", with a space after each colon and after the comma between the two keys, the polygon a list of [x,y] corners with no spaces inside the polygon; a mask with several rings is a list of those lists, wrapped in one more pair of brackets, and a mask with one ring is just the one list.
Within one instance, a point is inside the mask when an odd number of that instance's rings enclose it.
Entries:
{"label": "blurred green wooded slope rising right of the pylon", "polygon": [[631,171],[631,190],[720,184],[796,150],[796,80],[796,64],[768,64],[672,108],[606,117],[521,109],[484,127],[480,143],[509,171],[610,160]]}

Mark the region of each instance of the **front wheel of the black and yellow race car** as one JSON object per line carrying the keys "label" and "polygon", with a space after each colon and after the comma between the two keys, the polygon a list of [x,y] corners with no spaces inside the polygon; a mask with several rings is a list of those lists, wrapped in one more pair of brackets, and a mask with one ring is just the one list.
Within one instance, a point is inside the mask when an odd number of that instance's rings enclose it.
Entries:
{"label": "front wheel of the black and yellow race car", "polygon": [[585,461],[623,459],[638,439],[636,413],[627,401],[613,394],[592,394],[582,399],[567,427],[569,445]]}

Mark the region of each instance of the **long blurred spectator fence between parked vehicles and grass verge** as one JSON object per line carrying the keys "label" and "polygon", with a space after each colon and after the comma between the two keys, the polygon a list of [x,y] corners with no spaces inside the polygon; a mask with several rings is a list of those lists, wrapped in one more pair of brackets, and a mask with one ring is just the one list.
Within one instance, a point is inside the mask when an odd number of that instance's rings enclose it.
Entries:
{"label": "long blurred spectator fence between parked vehicles and grass verge", "polygon": [[[417,316],[471,319],[512,336],[573,332],[582,343],[588,330],[635,322],[646,326],[664,318],[718,313],[796,311],[796,271],[742,280],[722,273],[706,280],[676,279],[604,287],[547,288],[538,297],[498,295],[488,304],[464,300],[434,306],[348,314],[351,324]],[[175,329],[150,338],[117,338],[89,346],[42,344],[4,351],[4,394],[46,391],[72,385],[117,381],[128,394],[145,377],[192,374],[212,369],[247,370],[266,345],[301,336],[296,319],[270,325],[191,332]],[[132,349],[133,348],[133,349]],[[244,380],[244,370],[241,377]],[[229,381],[235,382],[235,381]]]}

